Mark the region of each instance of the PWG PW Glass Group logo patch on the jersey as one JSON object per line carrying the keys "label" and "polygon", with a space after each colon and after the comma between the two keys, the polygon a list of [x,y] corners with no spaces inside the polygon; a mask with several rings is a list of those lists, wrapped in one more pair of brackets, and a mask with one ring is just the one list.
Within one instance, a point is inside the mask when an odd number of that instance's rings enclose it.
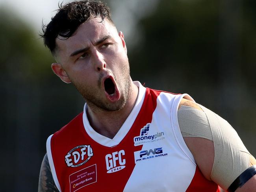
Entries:
{"label": "PWG PW Glass Group logo patch on the jersey", "polygon": [[146,159],[152,159],[156,157],[162,157],[166,155],[168,155],[168,153],[163,153],[162,148],[155,148],[154,150],[150,149],[150,150],[144,150],[144,151],[135,151],[134,160],[135,160],[135,163],[137,163],[138,161],[143,161]]}

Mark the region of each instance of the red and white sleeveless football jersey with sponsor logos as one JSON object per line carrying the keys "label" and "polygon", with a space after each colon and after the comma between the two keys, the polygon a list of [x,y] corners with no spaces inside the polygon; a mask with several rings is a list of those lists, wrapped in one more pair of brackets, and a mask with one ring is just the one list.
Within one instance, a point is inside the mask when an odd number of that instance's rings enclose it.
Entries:
{"label": "red and white sleeveless football jersey with sponsor logos", "polygon": [[183,97],[193,99],[134,83],[139,87],[137,101],[113,139],[90,126],[86,104],[83,113],[48,138],[48,159],[59,191],[219,191],[197,168],[178,125],[178,104]]}

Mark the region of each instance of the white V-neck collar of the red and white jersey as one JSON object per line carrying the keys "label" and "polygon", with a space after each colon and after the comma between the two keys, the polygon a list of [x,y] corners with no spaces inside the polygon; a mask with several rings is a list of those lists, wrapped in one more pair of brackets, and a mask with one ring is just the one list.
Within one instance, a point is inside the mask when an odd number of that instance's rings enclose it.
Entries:
{"label": "white V-neck collar of the red and white jersey", "polygon": [[131,113],[125,120],[124,124],[119,129],[119,131],[117,132],[117,134],[113,139],[100,135],[91,127],[91,125],[89,124],[89,120],[87,118],[87,114],[86,114],[87,104],[85,103],[83,108],[83,126],[87,134],[99,144],[106,147],[113,147],[118,145],[122,141],[122,139],[126,136],[126,134],[129,132],[130,128],[132,127],[132,124],[134,123],[141,109],[142,103],[145,98],[145,92],[146,92],[146,88],[143,87],[139,81],[134,81],[134,84],[137,85],[137,87],[139,87],[136,103]]}

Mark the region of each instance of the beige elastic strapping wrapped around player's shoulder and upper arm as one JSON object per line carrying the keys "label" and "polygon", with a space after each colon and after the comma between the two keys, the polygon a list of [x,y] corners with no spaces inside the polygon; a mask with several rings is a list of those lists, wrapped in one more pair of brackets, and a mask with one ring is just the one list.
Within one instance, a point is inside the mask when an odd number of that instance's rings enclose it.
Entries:
{"label": "beige elastic strapping wrapped around player's shoulder and upper arm", "polygon": [[213,141],[214,162],[210,177],[226,190],[250,167],[250,158],[253,157],[226,120],[200,107],[203,111],[184,105],[178,109],[180,131],[183,137],[202,137]]}

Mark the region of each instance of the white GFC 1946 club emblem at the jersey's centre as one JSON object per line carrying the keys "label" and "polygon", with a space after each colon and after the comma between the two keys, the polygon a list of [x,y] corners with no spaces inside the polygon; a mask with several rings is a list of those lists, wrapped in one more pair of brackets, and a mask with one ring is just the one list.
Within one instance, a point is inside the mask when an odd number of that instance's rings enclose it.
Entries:
{"label": "white GFC 1946 club emblem at the jersey's centre", "polygon": [[125,159],[124,159],[125,152],[124,150],[115,151],[111,154],[106,155],[106,168],[107,173],[114,173],[120,171],[125,168]]}

